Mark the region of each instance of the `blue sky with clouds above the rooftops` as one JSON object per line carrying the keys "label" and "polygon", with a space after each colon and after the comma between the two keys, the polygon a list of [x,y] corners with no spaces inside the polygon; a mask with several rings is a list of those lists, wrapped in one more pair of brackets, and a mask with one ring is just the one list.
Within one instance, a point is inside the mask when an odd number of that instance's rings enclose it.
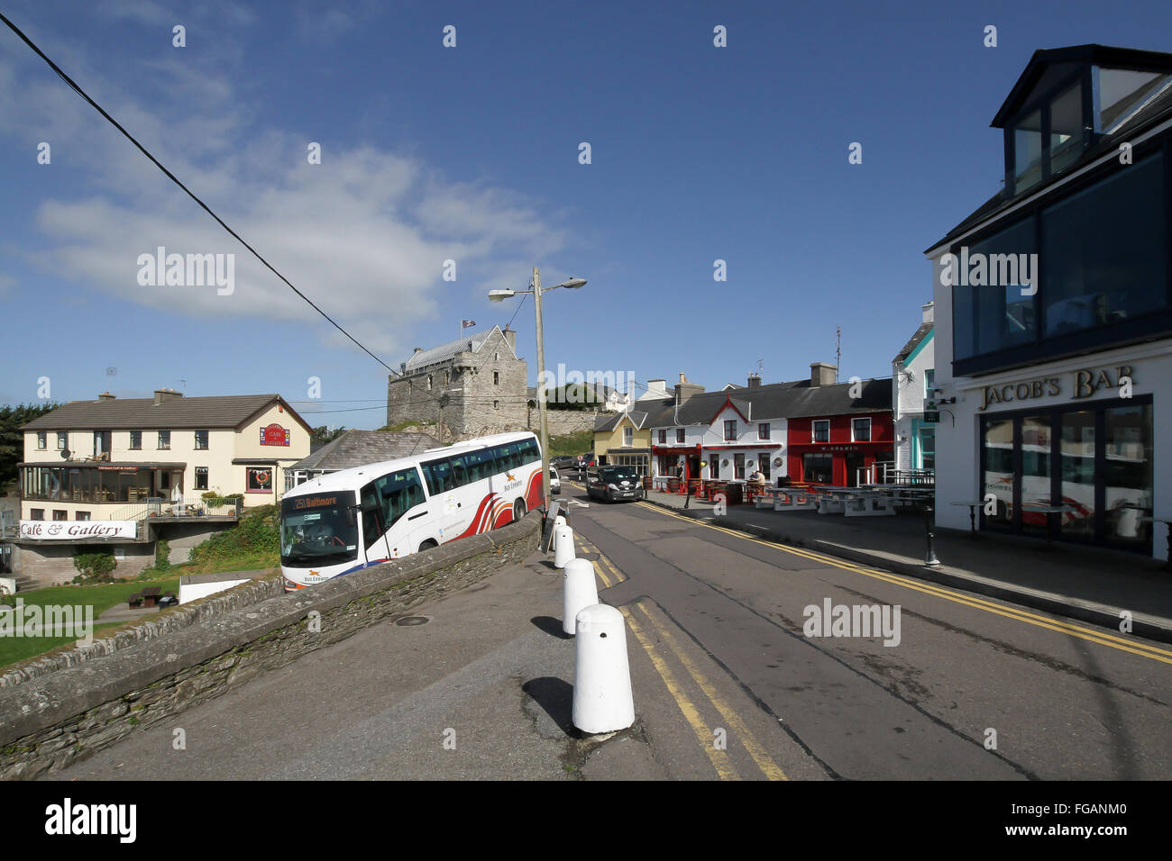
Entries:
{"label": "blue sky with clouds above the rooftops", "polygon": [[[758,360],[803,377],[838,326],[844,380],[890,375],[931,299],[924,248],[999,187],[989,121],[1030,54],[1172,50],[1166,0],[0,9],[391,367],[461,319],[507,322],[518,300],[486,292],[540,266],[588,279],[547,296],[547,365],[709,388]],[[4,27],[0,117],[0,403],[48,377],[59,401],[278,391],[315,425],[383,423],[386,371]],[[236,253],[232,293],[139,285],[161,245]],[[530,301],[513,327],[536,382]]]}

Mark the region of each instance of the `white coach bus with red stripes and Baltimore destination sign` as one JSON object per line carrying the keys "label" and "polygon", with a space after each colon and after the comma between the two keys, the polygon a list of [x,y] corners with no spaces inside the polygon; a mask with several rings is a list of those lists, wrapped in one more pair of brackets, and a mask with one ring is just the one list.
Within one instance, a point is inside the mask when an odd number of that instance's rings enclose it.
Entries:
{"label": "white coach bus with red stripes and Baltimore destination sign", "polygon": [[285,589],[488,532],[540,505],[541,450],[532,433],[333,472],[281,500]]}

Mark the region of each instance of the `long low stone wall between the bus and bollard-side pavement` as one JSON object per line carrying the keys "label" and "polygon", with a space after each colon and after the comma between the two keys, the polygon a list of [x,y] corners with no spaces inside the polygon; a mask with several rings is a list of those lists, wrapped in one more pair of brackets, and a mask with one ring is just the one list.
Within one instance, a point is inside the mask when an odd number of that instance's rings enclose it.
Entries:
{"label": "long low stone wall between the bus and bollard-side pavement", "polygon": [[[261,672],[461,589],[537,549],[531,513],[465,538],[0,688],[0,778],[60,771]],[[238,587],[240,588],[240,587]]]}

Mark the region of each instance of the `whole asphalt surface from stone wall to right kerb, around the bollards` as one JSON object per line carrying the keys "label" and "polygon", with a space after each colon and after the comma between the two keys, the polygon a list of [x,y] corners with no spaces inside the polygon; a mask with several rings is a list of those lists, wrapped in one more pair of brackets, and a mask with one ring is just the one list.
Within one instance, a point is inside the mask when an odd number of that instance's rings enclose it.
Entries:
{"label": "whole asphalt surface from stone wall to right kerb, around the bollards", "polygon": [[[632,729],[572,727],[563,578],[534,556],[413,610],[424,624],[372,626],[54,777],[1172,777],[1167,648],[643,503],[570,517],[627,622]],[[827,601],[892,624],[898,606],[898,628],[806,636]]]}

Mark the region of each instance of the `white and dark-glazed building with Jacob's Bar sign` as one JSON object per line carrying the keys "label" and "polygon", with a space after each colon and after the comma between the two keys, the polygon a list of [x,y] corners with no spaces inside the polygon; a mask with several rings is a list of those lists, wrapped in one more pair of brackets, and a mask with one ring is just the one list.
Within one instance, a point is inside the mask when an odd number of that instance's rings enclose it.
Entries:
{"label": "white and dark-glazed building with Jacob's Bar sign", "polygon": [[1004,187],[926,254],[936,522],[1167,558],[1172,54],[1038,50]]}

